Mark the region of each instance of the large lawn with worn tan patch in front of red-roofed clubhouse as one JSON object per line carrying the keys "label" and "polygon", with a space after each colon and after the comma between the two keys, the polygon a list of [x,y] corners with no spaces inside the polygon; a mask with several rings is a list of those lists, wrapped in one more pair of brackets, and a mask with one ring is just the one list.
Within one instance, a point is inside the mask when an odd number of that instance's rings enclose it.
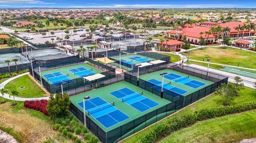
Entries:
{"label": "large lawn with worn tan patch in front of red-roofed clubhouse", "polygon": [[189,51],[189,59],[206,61],[210,58],[212,63],[227,64],[244,68],[256,68],[256,54],[229,47],[205,47]]}

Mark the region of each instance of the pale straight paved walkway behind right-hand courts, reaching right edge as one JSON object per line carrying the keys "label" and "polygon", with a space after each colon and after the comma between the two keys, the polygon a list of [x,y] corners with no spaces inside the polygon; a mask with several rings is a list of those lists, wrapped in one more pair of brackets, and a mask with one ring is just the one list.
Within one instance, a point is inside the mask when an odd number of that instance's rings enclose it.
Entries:
{"label": "pale straight paved walkway behind right-hand courts, reaching right edge", "polygon": [[[194,68],[198,68],[198,69],[202,69],[202,70],[207,70],[207,67],[205,66],[201,66],[201,65],[196,65],[196,64],[189,64],[189,66],[191,67],[194,67]],[[209,68],[209,71],[212,71],[212,72],[215,72],[215,73],[219,73],[219,74],[222,74],[222,75],[225,75],[228,78],[228,81],[229,82],[233,82],[235,83],[235,80],[234,78],[236,76],[239,76],[243,79],[243,83],[244,83],[244,86],[246,87],[250,87],[250,88],[253,88],[253,89],[256,89],[253,85],[254,85],[254,82],[256,82],[256,79],[253,79],[253,78],[249,78],[249,77],[244,77],[242,75],[237,75],[237,74],[234,74],[234,73],[229,73],[229,72],[225,72],[225,71],[221,71],[221,70],[216,70],[216,69],[212,69],[212,68]]]}

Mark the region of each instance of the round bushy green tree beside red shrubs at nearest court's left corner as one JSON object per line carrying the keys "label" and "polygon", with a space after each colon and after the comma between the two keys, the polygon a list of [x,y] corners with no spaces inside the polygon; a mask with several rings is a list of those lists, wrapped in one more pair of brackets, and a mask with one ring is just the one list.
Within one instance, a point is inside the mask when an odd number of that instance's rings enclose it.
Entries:
{"label": "round bushy green tree beside red shrubs at nearest court's left corner", "polygon": [[63,98],[61,94],[50,95],[50,100],[46,106],[49,116],[54,119],[56,117],[65,117],[69,113],[70,100],[65,92]]}

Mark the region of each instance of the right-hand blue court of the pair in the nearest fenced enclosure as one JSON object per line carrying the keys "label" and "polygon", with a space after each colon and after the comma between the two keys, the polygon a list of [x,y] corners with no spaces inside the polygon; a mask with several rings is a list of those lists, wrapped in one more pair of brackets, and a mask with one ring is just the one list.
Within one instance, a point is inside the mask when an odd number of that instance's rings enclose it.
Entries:
{"label": "right-hand blue court of the pair in the nearest fenced enclosure", "polygon": [[149,110],[150,108],[153,108],[158,103],[154,102],[153,100],[148,99],[145,96],[142,96],[141,94],[129,89],[129,88],[122,88],[119,90],[116,90],[114,92],[110,92],[111,95],[115,96],[116,98],[122,100],[122,102],[125,102],[126,104],[134,107],[140,112],[144,112]]}

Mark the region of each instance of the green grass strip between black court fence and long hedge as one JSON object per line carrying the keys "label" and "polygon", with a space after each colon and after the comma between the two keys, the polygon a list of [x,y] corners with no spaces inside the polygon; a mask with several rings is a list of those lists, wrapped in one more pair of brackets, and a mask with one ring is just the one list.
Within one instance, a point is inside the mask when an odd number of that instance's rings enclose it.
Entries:
{"label": "green grass strip between black court fence and long hedge", "polygon": [[[244,103],[244,102],[250,102],[250,101],[256,101],[256,92],[254,89],[251,88],[244,88],[239,92],[239,97],[236,97],[233,102],[230,103],[230,105],[236,105],[238,103]],[[224,99],[218,95],[211,95],[194,105],[191,105],[190,107],[187,107],[185,110],[180,111],[177,114],[174,114],[173,116],[179,116],[186,113],[192,113],[194,111],[201,110],[203,108],[209,108],[209,107],[221,107],[223,106],[222,103],[224,102]],[[158,125],[165,124],[169,121],[173,116],[167,117],[167,119],[164,119],[161,122],[158,122],[151,127],[134,134],[134,136],[131,136],[130,138],[125,139],[123,142],[137,142],[140,140],[143,136],[148,134],[149,132],[153,131],[155,128],[158,127]]]}

